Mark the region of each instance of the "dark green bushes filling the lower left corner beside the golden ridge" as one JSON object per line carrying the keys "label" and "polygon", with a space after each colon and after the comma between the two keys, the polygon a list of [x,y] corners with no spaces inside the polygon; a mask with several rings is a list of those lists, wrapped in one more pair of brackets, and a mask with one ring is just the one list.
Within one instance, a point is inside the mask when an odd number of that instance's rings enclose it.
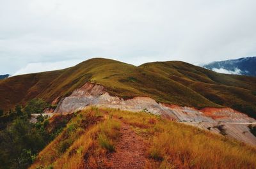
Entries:
{"label": "dark green bushes filling the lower left corner beside the golden ridge", "polygon": [[[1,168],[28,168],[37,154],[62,132],[72,115],[67,118],[62,115],[65,121],[55,116],[49,121],[42,115],[46,106],[42,99],[34,99],[26,107],[17,105],[15,110],[0,117]],[[40,113],[35,124],[29,122],[32,112]]]}

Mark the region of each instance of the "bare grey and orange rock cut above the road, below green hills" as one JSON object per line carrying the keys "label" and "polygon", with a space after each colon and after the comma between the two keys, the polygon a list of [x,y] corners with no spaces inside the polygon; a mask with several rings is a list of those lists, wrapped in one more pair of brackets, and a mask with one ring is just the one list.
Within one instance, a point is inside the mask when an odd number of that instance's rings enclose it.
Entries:
{"label": "bare grey and orange rock cut above the road, below green hills", "polygon": [[104,87],[86,83],[76,89],[70,96],[60,101],[55,113],[70,113],[81,110],[88,105],[98,107],[120,108],[132,112],[147,111],[155,115],[163,115],[169,119],[181,122],[252,122],[255,119],[241,114],[232,108],[203,108],[180,107],[157,103],[152,98],[134,97],[122,99],[110,96]]}

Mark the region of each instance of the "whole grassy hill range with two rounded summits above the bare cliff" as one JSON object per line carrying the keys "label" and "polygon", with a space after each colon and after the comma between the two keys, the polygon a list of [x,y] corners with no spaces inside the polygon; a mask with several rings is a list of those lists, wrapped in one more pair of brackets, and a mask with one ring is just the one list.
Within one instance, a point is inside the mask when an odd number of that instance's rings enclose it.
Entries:
{"label": "whole grassy hill range with two rounded summits above the bare cliff", "polygon": [[255,117],[256,78],[224,75],[185,62],[133,66],[90,59],[72,68],[8,78],[0,82],[0,108],[8,110],[33,97],[48,102],[68,96],[85,82],[106,87],[122,98],[149,96],[191,107],[232,107]]}

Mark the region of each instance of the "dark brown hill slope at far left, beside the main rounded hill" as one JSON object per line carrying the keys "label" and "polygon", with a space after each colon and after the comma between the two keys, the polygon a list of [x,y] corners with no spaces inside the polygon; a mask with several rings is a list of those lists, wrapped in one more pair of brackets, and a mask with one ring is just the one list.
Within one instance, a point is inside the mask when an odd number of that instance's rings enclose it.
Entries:
{"label": "dark brown hill slope at far left, beside the main rounded hill", "polygon": [[0,109],[9,110],[17,104],[24,104],[42,91],[62,71],[48,71],[6,78],[0,81]]}

